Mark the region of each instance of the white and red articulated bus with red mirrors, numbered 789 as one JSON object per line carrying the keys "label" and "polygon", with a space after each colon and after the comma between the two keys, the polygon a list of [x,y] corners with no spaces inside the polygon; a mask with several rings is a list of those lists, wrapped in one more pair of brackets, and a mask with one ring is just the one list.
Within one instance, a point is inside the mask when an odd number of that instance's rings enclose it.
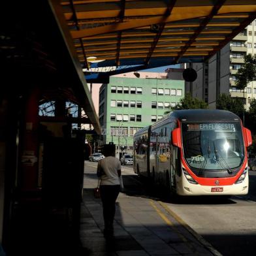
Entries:
{"label": "white and red articulated bus with red mirrors, numbered 789", "polygon": [[251,131],[226,110],[175,110],[134,135],[134,171],[177,195],[246,195]]}

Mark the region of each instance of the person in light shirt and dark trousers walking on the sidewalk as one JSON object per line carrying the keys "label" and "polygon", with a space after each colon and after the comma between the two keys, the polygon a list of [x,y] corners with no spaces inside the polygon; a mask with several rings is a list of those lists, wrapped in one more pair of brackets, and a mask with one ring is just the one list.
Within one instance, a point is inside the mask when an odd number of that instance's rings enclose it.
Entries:
{"label": "person in light shirt and dark trousers walking on the sidewalk", "polygon": [[115,145],[104,146],[104,156],[97,167],[97,176],[101,179],[100,193],[103,202],[104,236],[114,236],[114,216],[116,213],[116,199],[120,193],[121,163],[115,157]]}

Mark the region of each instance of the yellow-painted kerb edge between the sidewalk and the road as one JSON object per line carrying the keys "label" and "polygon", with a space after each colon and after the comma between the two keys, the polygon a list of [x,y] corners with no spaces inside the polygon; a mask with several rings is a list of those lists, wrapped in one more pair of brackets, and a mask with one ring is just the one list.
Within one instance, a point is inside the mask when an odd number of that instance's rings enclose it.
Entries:
{"label": "yellow-painted kerb edge between the sidewalk and the road", "polygon": [[197,238],[197,240],[200,242],[200,244],[202,244],[204,247],[206,247],[208,250],[210,250],[211,253],[213,253],[215,256],[223,256],[221,253],[219,253],[219,251],[217,251],[212,246],[212,244],[210,244],[209,242],[204,240],[204,238],[202,236],[200,236],[200,234],[195,232],[191,227],[189,227],[189,225],[187,225],[187,223],[185,223],[185,221],[182,218],[180,218],[177,214],[175,214],[172,210],[170,210],[170,208],[168,208],[168,206],[164,202],[159,201],[159,204],[161,204],[161,206],[163,206],[163,208],[165,208],[165,210],[167,210],[168,214],[170,214],[170,216],[174,217],[174,219],[176,219],[176,221],[178,221],[178,223],[180,223],[180,225],[185,227],[185,229],[187,229],[187,231],[189,231],[191,234],[193,234],[193,236],[195,236],[195,238]]}

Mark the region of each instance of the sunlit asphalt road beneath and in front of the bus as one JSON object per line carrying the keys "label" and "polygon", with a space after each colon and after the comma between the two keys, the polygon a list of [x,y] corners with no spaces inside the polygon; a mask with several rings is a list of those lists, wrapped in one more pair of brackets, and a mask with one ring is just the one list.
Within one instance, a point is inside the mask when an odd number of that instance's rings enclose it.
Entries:
{"label": "sunlit asphalt road beneath and in front of the bus", "polygon": [[[92,165],[96,166],[96,163]],[[142,184],[132,166],[122,166],[127,195],[161,200],[223,255],[256,255],[256,172],[249,172],[246,196],[187,197],[173,200]]]}

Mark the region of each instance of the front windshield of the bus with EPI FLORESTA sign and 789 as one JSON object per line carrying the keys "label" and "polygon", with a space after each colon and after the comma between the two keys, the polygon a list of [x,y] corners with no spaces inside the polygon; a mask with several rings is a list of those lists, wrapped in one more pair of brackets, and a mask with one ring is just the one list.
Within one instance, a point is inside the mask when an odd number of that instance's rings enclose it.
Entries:
{"label": "front windshield of the bus with EPI FLORESTA sign and 789", "polygon": [[244,161],[241,125],[229,123],[182,123],[185,161],[200,170],[237,168]]}

